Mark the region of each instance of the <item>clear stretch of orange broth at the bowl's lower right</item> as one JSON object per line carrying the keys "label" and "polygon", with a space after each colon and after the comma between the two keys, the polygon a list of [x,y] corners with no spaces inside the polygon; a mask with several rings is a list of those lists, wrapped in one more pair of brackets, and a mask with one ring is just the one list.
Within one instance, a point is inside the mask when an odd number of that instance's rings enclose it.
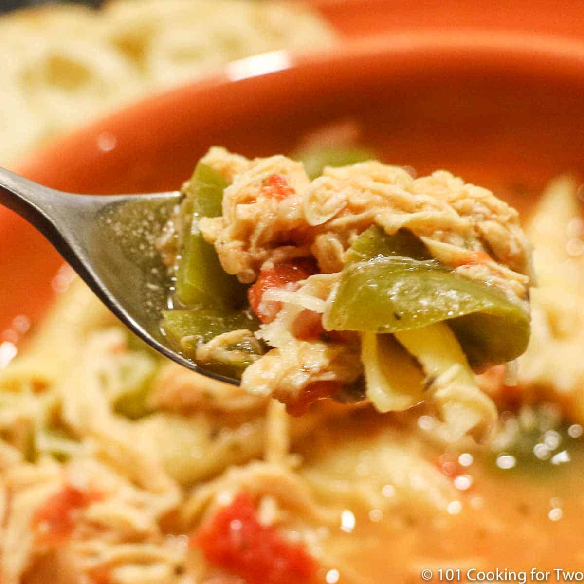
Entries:
{"label": "clear stretch of orange broth at the bowl's lower right", "polygon": [[[346,431],[330,438],[346,440]],[[439,454],[429,445],[424,451],[430,458]],[[326,549],[342,557],[364,584],[420,582],[423,569],[436,575],[439,568],[460,568],[464,575],[471,568],[579,568],[584,565],[583,471],[581,447],[565,467],[550,465],[538,475],[477,459],[465,469],[472,484],[461,492],[460,510],[454,506],[451,515],[425,516],[351,507],[354,531],[332,533]],[[342,568],[339,572],[342,582]]]}

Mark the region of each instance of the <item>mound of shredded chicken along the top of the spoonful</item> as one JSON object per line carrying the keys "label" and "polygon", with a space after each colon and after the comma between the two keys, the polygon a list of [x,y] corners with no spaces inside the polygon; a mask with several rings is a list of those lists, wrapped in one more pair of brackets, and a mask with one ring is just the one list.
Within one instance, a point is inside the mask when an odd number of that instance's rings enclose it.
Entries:
{"label": "mound of shredded chicken along the top of the spoonful", "polygon": [[[351,235],[377,224],[390,235],[406,227],[436,248],[447,244],[439,248],[444,265],[468,264],[465,276],[527,296],[533,270],[519,214],[489,190],[446,171],[413,179],[376,161],[325,168],[312,182],[300,162],[281,155],[244,161],[223,148],[203,158],[233,182],[225,189],[223,216],[199,222],[224,269],[241,281],[254,281],[290,245],[314,253],[322,272],[338,271]],[[274,174],[286,180],[289,196],[274,195],[267,185]],[[488,258],[479,261],[469,252]]]}

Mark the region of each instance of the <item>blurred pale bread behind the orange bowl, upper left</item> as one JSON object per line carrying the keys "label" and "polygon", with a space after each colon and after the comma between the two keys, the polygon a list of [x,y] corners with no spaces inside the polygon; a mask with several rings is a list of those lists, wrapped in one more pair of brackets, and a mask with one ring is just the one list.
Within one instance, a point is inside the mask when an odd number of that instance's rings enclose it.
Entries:
{"label": "blurred pale bread behind the orange bowl, upper left", "polygon": [[280,48],[332,46],[304,6],[253,0],[114,0],[0,19],[0,165],[150,93]]}

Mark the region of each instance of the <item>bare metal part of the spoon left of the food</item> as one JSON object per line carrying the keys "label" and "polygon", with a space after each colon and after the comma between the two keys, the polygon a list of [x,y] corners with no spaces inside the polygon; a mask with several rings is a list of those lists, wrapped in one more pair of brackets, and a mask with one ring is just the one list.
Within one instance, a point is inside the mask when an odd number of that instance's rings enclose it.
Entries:
{"label": "bare metal part of the spoon left of the food", "polygon": [[0,204],[36,227],[128,328],[165,357],[220,381],[173,350],[159,326],[171,279],[154,246],[180,192],[65,193],[0,168]]}

